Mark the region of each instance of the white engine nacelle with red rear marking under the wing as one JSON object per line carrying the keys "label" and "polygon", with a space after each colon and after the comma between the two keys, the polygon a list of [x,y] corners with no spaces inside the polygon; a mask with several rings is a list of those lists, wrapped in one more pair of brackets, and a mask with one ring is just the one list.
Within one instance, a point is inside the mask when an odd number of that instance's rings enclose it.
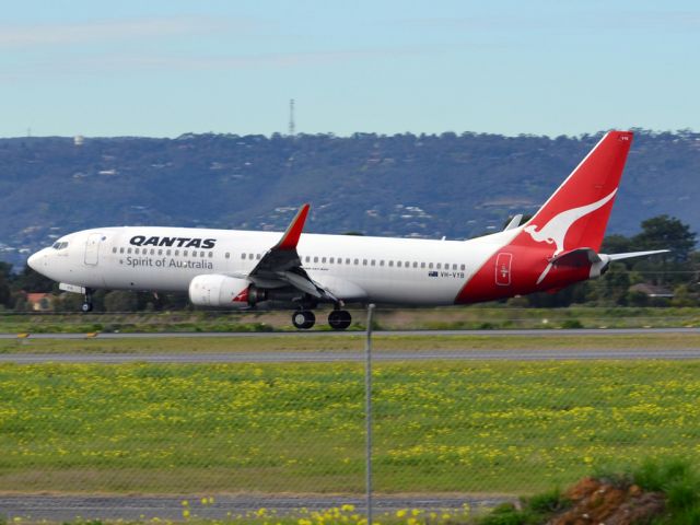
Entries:
{"label": "white engine nacelle with red rear marking under the wing", "polygon": [[257,290],[253,288],[249,281],[236,277],[197,276],[189,282],[189,300],[197,306],[247,308],[258,301]]}

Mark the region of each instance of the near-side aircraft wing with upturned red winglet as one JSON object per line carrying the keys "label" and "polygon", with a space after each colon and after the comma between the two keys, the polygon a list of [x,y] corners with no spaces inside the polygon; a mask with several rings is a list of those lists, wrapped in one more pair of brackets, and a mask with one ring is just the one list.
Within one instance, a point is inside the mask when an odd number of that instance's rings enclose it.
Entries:
{"label": "near-side aircraft wing with upturned red winglet", "polygon": [[245,277],[261,288],[279,288],[289,284],[316,299],[337,303],[340,302],[338,298],[308,277],[296,253],[308,209],[308,205],[299,209],[279,242],[267,250],[256,267]]}

